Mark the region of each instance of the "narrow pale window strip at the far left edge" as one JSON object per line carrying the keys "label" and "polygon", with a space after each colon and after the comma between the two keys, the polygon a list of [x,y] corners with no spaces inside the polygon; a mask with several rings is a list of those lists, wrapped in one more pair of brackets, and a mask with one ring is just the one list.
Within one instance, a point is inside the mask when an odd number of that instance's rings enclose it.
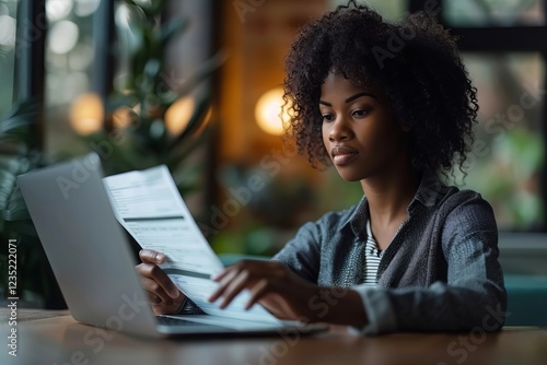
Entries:
{"label": "narrow pale window strip at the far left edge", "polygon": [[0,116],[11,108],[15,61],[16,0],[0,1]]}

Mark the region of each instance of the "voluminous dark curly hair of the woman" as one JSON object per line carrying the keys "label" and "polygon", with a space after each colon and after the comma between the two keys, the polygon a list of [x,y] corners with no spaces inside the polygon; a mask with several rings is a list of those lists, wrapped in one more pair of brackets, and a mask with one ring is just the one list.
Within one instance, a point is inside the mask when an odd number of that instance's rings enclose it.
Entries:
{"label": "voluminous dark curly hair of the woman", "polygon": [[419,12],[388,23],[352,0],[303,27],[286,59],[283,99],[290,115],[287,136],[314,167],[330,164],[318,101],[331,71],[385,92],[397,121],[410,128],[416,168],[447,176],[457,163],[465,176],[477,90],[455,38],[432,15]]}

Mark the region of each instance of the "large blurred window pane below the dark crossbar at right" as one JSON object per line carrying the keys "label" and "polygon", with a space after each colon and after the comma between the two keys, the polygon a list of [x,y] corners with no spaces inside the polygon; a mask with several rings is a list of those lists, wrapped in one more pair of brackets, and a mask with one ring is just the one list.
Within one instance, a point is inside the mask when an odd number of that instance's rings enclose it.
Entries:
{"label": "large blurred window pane below the dark crossbar at right", "polygon": [[539,54],[466,54],[464,60],[480,106],[465,186],[492,204],[500,229],[539,227],[545,60]]}

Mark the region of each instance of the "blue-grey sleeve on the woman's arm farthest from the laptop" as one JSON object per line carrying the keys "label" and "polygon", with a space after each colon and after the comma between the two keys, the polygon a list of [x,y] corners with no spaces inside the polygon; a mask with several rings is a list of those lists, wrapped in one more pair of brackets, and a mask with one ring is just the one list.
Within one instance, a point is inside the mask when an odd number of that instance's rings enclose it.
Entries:
{"label": "blue-grey sleeve on the woman's arm farthest from the laptop", "polygon": [[477,195],[452,210],[442,231],[446,282],[429,287],[354,287],[370,323],[363,334],[393,331],[499,330],[507,292],[498,261],[498,229],[491,207]]}

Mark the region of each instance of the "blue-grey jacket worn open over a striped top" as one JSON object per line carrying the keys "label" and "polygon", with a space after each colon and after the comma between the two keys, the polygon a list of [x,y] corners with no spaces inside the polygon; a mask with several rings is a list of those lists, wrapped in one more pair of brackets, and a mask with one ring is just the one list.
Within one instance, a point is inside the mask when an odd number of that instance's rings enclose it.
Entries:
{"label": "blue-grey jacket worn open over a striped top", "polygon": [[383,252],[377,286],[362,285],[365,197],[303,225],[274,260],[318,285],[358,291],[369,317],[358,330],[365,334],[500,329],[507,293],[488,202],[424,173],[408,215]]}

